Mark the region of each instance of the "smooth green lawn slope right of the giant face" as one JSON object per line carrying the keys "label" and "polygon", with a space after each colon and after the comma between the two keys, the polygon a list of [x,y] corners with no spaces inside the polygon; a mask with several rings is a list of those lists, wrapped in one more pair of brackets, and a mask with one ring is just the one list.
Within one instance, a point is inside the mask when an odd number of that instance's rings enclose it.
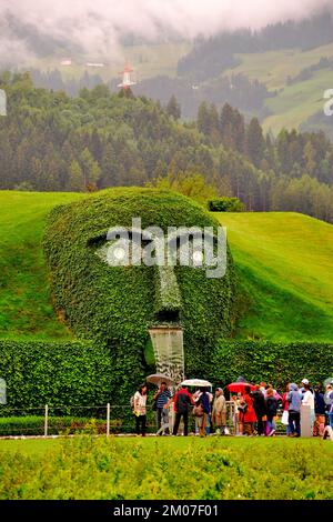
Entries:
{"label": "smooth green lawn slope right of the giant face", "polygon": [[297,213],[219,214],[246,298],[239,337],[333,337],[333,227]]}

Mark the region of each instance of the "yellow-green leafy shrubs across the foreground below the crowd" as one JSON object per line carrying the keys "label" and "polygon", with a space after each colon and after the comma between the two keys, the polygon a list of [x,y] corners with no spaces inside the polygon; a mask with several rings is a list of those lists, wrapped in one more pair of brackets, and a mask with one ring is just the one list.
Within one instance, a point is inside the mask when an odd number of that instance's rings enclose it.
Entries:
{"label": "yellow-green leafy shrubs across the foreground below the crowd", "polygon": [[[325,441],[73,438],[0,448],[0,500],[332,500]],[[232,443],[231,443],[232,442]]]}

